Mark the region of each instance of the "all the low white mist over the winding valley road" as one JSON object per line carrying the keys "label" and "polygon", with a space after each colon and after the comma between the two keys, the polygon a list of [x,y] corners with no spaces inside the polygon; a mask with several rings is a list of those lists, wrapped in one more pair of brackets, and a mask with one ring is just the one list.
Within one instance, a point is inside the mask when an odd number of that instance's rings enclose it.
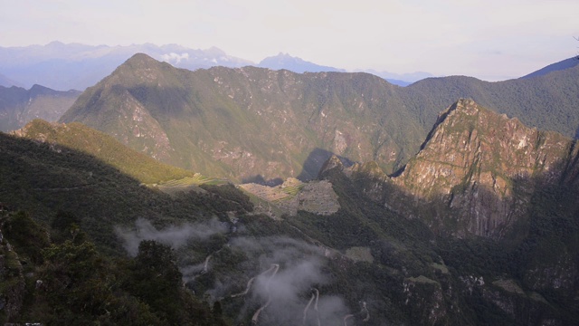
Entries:
{"label": "all the low white mist over the winding valley road", "polygon": [[[169,226],[158,230],[145,219],[138,219],[134,228],[117,227],[117,235],[125,242],[128,254],[138,254],[142,240],[155,240],[177,249],[198,245],[211,235],[226,234],[230,227],[212,219],[205,223]],[[235,307],[236,322],[259,325],[341,325],[350,313],[344,300],[323,292],[332,283],[327,273],[327,257],[316,245],[287,236],[252,237],[229,233],[227,244],[201,262],[180,266],[184,283],[213,283],[209,290],[195,293],[210,302],[221,302],[224,309]],[[192,240],[195,240],[193,242]],[[238,253],[245,258],[232,269],[212,272],[222,250]],[[186,251],[184,251],[186,252]],[[216,261],[214,263],[214,261]],[[197,277],[204,277],[197,279]],[[338,284],[339,287],[339,284]],[[336,286],[334,286],[336,288]],[[205,287],[207,289],[207,287]]]}

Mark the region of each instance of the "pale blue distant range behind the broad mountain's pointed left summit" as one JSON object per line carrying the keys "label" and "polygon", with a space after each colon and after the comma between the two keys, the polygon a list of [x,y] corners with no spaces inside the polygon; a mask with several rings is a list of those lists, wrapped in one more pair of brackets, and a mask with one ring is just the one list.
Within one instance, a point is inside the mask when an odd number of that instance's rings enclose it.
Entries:
{"label": "pale blue distant range behind the broad mountain's pointed left summit", "polygon": [[42,84],[54,90],[84,90],[113,72],[135,53],[147,53],[159,61],[190,70],[214,65],[242,67],[252,64],[215,47],[194,50],[176,44],[90,46],[52,42],[46,45],[0,47],[0,72],[22,82],[25,87]]}

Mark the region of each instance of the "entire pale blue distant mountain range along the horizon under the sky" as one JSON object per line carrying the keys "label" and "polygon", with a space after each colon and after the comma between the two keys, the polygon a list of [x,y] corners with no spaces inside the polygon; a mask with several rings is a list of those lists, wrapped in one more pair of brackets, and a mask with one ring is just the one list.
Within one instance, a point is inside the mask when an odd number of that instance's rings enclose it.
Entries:
{"label": "entire pale blue distant mountain range along the horizon under the sky", "polygon": [[[227,55],[218,48],[195,50],[176,44],[133,44],[128,46],[91,46],[80,43],[52,42],[46,45],[0,47],[0,85],[32,87],[40,84],[54,90],[84,90],[109,75],[122,62],[136,53],[146,53],[158,61],[169,62],[177,68],[195,70],[223,66],[239,68],[259,66],[291,72],[345,72],[343,69],[318,65],[280,53],[263,59],[259,64]],[[430,73],[394,74],[375,72],[388,82],[406,86]]]}

